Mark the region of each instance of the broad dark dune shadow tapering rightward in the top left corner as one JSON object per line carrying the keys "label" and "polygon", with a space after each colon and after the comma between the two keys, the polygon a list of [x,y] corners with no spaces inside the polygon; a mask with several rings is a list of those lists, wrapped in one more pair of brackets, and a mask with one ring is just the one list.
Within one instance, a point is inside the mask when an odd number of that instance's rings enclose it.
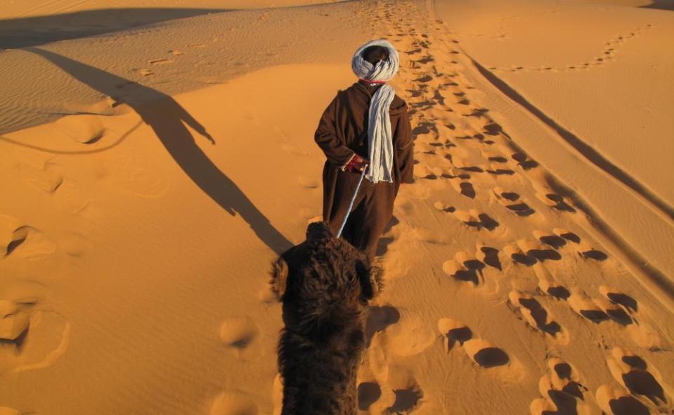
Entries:
{"label": "broad dark dune shadow tapering rightward in the top left corner", "polygon": [[166,20],[230,11],[221,8],[103,8],[0,20],[0,49],[39,46],[128,30]]}

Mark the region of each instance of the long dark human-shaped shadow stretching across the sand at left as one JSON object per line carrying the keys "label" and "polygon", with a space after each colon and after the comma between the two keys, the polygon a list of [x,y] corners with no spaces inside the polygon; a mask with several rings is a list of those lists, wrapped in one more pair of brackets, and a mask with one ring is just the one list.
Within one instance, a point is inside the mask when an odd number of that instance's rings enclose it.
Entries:
{"label": "long dark human-shaped shadow stretching across the sand at left", "polygon": [[183,172],[218,205],[230,215],[238,213],[274,252],[280,254],[293,245],[201,151],[183,122],[211,143],[215,143],[214,139],[171,96],[57,53],[34,47],[24,50],[42,56],[79,82],[110,96],[115,100],[115,105],[125,103],[133,108],[152,127]]}

